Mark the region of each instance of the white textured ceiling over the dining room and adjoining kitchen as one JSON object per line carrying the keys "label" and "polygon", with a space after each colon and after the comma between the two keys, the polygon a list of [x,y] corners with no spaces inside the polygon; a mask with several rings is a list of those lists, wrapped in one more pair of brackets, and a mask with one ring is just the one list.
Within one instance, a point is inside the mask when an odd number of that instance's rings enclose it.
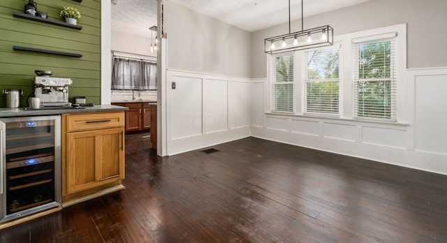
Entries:
{"label": "white textured ceiling over the dining room and adjoining kitchen", "polygon": [[[118,0],[112,4],[112,29],[150,36],[156,25],[156,0]],[[288,22],[287,0],[166,0],[191,8],[246,31]],[[304,0],[305,17],[369,0]],[[301,1],[291,0],[291,20],[301,18]],[[328,23],[330,24],[330,23]],[[306,28],[306,27],[305,27]]]}

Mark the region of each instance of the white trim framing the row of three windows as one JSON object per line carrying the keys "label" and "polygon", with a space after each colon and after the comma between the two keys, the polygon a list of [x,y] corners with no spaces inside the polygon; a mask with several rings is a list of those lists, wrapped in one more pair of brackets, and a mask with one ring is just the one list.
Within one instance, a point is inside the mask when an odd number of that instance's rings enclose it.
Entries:
{"label": "white trim framing the row of three windows", "polygon": [[[396,101],[396,121],[365,121],[362,119],[354,119],[354,107],[353,107],[353,56],[352,56],[352,43],[353,40],[364,40],[362,38],[376,38],[380,35],[389,35],[396,33],[396,50],[397,50],[397,65],[396,65],[396,75],[397,75],[397,101]],[[352,121],[353,124],[356,123],[362,123],[362,122],[368,122],[368,123],[377,123],[377,124],[383,124],[383,122],[389,123],[389,124],[407,124],[407,114],[404,107],[405,104],[405,82],[404,82],[404,76],[406,72],[406,24],[396,24],[388,27],[381,27],[377,29],[368,29],[365,31],[358,31],[353,32],[350,34],[343,34],[339,36],[334,36],[334,42],[342,43],[342,53],[341,53],[341,59],[340,59],[340,74],[341,74],[341,87],[340,87],[340,107],[339,107],[339,118],[337,117],[328,117],[332,119],[332,121]],[[309,117],[309,119],[314,119],[316,117],[315,115],[310,114],[304,114],[302,105],[304,105],[303,100],[303,74],[298,75],[297,71],[302,72],[303,70],[303,63],[302,58],[304,56],[305,50],[300,50],[295,52],[295,112],[291,114],[291,116],[300,116],[300,117]],[[284,54],[284,53],[282,53]],[[270,55],[268,56],[270,57]],[[267,61],[268,71],[270,71],[270,59]],[[268,97],[269,99],[272,98],[271,94],[271,80],[270,80],[270,74],[268,75]],[[298,97],[300,96],[300,97]],[[271,105],[271,101],[269,101],[269,104]],[[272,114],[270,109],[266,110],[265,114]],[[275,112],[276,113],[276,112]],[[287,115],[287,114],[285,114]],[[318,116],[324,118],[325,116]]]}

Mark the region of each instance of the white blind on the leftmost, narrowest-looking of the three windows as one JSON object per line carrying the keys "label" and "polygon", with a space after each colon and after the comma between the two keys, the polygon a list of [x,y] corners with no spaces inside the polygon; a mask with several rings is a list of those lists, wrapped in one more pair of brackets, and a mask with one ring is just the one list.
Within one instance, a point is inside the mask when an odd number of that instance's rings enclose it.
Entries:
{"label": "white blind on the leftmost, narrowest-looking of the three windows", "polygon": [[270,56],[272,111],[295,112],[294,55]]}

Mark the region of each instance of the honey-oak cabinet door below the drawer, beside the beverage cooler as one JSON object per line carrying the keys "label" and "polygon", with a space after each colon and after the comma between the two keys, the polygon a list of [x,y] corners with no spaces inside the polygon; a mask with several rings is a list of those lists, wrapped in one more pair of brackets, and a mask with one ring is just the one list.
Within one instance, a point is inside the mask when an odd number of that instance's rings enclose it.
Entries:
{"label": "honey-oak cabinet door below the drawer, beside the beverage cooler", "polygon": [[67,133],[67,191],[124,179],[124,129]]}

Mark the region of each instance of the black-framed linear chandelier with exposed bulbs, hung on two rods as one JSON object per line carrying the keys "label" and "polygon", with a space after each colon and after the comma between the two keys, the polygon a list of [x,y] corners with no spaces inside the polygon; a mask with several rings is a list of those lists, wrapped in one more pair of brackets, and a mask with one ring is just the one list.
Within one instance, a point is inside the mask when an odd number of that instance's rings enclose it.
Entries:
{"label": "black-framed linear chandelier with exposed bulbs, hung on two rods", "polygon": [[301,0],[301,31],[291,33],[291,0],[288,0],[288,34],[266,38],[265,53],[277,54],[334,44],[334,29],[329,25],[304,29],[303,12]]}

